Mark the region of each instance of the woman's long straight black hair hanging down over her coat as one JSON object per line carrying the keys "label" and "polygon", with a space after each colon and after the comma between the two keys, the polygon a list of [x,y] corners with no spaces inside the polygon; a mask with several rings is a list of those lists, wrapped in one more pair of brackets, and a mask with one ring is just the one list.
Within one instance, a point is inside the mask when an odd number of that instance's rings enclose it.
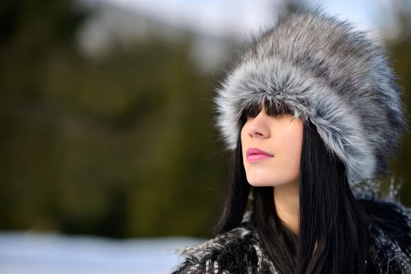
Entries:
{"label": "woman's long straight black hair hanging down over her coat", "polygon": [[[264,107],[270,115],[276,114],[271,104]],[[242,125],[247,116],[258,112],[257,106],[246,110]],[[277,216],[273,187],[251,187],[247,182],[240,136],[232,156],[227,198],[216,234],[241,223],[252,192],[251,224],[279,273],[371,273],[371,262],[365,262],[368,216],[349,188],[345,165],[325,147],[310,121],[303,125],[299,235]]]}

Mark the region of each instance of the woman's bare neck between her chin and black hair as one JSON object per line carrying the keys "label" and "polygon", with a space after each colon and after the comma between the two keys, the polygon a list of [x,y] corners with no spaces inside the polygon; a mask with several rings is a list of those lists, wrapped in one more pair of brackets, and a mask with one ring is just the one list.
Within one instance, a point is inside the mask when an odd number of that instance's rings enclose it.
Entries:
{"label": "woman's bare neck between her chin and black hair", "polygon": [[299,184],[297,182],[274,187],[277,216],[296,235],[299,234]]}

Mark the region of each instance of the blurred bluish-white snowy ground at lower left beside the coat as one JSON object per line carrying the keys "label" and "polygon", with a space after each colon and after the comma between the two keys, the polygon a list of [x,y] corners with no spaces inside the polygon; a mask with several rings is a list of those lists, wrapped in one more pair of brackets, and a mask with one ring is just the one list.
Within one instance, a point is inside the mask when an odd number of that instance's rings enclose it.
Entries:
{"label": "blurred bluish-white snowy ground at lower left beside the coat", "polygon": [[173,249],[195,238],[107,240],[59,234],[0,233],[2,274],[165,274],[179,262]]}

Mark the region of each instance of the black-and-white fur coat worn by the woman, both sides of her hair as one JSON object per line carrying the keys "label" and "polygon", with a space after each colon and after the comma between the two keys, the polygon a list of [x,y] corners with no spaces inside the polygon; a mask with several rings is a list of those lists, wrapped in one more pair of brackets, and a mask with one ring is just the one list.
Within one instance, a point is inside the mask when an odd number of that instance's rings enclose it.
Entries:
{"label": "black-and-white fur coat worn by the woman, both sides of her hair", "polygon": [[[367,214],[384,220],[383,224],[370,227],[373,245],[369,258],[377,268],[375,273],[411,273],[411,209],[393,195],[393,189],[385,199],[375,192],[356,194]],[[231,231],[179,249],[179,253],[184,261],[173,274],[279,274],[264,252],[258,232],[251,227],[249,214]]]}

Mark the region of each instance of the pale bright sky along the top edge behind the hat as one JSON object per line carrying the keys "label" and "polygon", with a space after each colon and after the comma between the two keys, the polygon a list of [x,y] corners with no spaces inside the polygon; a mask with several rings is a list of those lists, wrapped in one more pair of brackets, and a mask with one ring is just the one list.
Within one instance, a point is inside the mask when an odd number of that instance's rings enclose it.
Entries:
{"label": "pale bright sky along the top edge behind the hat", "polygon": [[[101,0],[127,10],[160,18],[171,25],[188,26],[213,36],[234,33],[244,36],[272,25],[273,4],[279,0]],[[381,11],[390,0],[308,0],[325,12],[349,19],[359,29],[375,32]]]}

